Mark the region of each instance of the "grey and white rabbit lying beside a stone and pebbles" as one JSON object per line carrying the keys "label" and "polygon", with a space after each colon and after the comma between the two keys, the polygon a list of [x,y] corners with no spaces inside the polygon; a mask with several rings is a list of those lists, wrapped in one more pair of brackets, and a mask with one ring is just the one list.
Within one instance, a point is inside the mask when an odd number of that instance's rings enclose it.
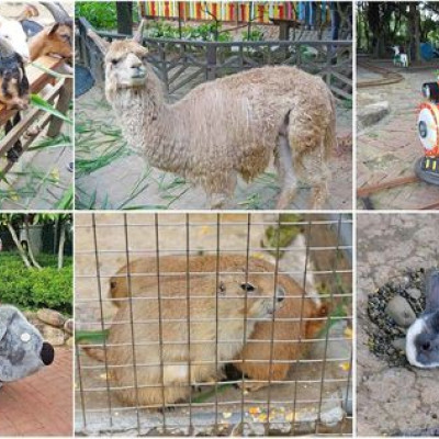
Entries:
{"label": "grey and white rabbit lying beside a stone and pebbles", "polygon": [[405,350],[412,365],[439,368],[439,269],[426,273],[426,309],[408,328]]}

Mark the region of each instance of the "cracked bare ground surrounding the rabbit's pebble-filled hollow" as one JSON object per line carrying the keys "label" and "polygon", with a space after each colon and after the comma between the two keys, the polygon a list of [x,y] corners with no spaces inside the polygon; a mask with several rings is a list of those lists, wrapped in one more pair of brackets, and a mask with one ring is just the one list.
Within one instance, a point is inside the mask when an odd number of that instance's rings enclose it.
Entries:
{"label": "cracked bare ground surrounding the rabbit's pebble-filled hollow", "polygon": [[[437,215],[436,215],[437,216]],[[359,436],[434,436],[439,370],[390,368],[368,349],[368,294],[404,270],[438,266],[432,214],[358,215],[357,427]],[[429,432],[430,431],[430,432]]]}

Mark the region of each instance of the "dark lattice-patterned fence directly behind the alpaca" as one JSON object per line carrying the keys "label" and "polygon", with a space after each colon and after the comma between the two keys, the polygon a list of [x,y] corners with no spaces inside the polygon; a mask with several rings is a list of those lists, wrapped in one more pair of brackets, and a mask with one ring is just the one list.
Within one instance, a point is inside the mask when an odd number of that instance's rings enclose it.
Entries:
{"label": "dark lattice-patterned fence directly behind the alpaca", "polygon": [[[90,23],[78,20],[79,59],[103,81],[102,55],[88,36]],[[98,31],[112,41],[126,35]],[[267,65],[293,65],[319,75],[338,99],[352,98],[351,41],[200,42],[145,38],[149,61],[170,97],[179,97],[206,80]]]}

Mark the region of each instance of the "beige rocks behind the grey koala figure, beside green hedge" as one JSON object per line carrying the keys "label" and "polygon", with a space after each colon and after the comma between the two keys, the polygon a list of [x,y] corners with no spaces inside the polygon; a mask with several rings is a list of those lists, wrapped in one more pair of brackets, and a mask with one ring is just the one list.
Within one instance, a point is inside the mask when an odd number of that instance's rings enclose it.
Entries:
{"label": "beige rocks behind the grey koala figure, beside green hedge", "polygon": [[74,346],[74,319],[64,316],[61,313],[43,308],[37,312],[24,313],[42,334],[43,338],[53,346]]}

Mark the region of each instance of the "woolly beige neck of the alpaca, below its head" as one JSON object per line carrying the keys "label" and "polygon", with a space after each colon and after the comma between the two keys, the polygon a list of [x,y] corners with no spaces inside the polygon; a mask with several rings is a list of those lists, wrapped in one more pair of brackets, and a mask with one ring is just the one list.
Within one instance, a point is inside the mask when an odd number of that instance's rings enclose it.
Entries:
{"label": "woolly beige neck of the alpaca, below its head", "polygon": [[110,91],[108,97],[130,147],[145,156],[149,165],[176,171],[182,159],[181,151],[176,153],[178,136],[173,133],[178,128],[158,78],[149,79],[144,88]]}

